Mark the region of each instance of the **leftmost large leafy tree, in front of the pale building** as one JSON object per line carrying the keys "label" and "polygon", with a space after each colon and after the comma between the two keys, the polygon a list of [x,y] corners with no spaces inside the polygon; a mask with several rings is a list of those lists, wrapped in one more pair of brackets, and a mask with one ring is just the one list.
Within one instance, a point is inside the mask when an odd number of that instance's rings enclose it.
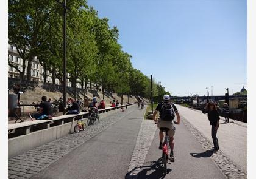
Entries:
{"label": "leftmost large leafy tree, in front of the pale building", "polygon": [[21,79],[24,79],[27,62],[27,80],[31,80],[32,60],[38,56],[40,47],[47,39],[53,7],[53,0],[8,1],[8,42],[16,47],[23,60],[23,69],[12,63],[9,66],[20,72]]}

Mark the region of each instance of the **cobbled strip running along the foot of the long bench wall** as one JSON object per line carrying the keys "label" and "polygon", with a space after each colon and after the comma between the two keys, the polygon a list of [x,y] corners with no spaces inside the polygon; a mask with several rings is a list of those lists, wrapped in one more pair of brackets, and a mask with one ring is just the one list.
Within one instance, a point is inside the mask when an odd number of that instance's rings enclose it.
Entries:
{"label": "cobbled strip running along the foot of the long bench wall", "polygon": [[8,160],[8,178],[30,178],[50,164],[59,160],[64,155],[76,149],[76,147],[90,140],[107,127],[121,120],[124,116],[133,112],[137,107],[130,107],[125,112],[117,112],[109,117],[100,118],[100,123],[88,126],[84,131],[66,135],[58,140],[51,141],[29,150],[21,155]]}

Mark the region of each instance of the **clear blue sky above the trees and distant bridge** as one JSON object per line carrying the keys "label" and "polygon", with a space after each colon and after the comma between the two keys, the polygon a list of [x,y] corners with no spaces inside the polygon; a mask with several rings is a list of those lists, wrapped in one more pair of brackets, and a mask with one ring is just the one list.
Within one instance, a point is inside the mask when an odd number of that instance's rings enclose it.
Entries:
{"label": "clear blue sky above the trees and distant bridge", "polygon": [[[132,65],[177,96],[247,83],[247,1],[88,0],[119,29]],[[247,86],[244,86],[247,89]]]}

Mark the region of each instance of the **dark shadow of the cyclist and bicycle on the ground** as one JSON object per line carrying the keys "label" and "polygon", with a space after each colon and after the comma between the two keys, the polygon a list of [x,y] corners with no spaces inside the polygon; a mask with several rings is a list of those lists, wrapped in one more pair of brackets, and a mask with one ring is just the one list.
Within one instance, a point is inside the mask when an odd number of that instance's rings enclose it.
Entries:
{"label": "dark shadow of the cyclist and bicycle on the ground", "polygon": [[[133,171],[140,168],[141,171],[138,172],[137,175],[130,175]],[[167,174],[171,172],[171,169],[167,169]],[[132,178],[165,178],[165,174],[163,173],[162,167],[162,157],[160,157],[157,161],[151,161],[150,165],[135,167],[132,171],[126,174],[125,179],[132,179]]]}

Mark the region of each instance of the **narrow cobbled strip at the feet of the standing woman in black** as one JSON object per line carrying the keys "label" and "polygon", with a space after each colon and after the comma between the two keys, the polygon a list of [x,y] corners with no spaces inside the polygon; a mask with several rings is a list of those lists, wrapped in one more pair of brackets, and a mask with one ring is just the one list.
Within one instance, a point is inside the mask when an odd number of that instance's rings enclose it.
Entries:
{"label": "narrow cobbled strip at the feet of the standing woman in black", "polygon": [[[194,126],[192,126],[190,122],[186,120],[184,117],[181,117],[181,120],[183,121],[185,126],[190,130],[190,132],[193,133],[194,137],[196,138],[197,141],[199,141],[199,143],[202,145],[202,148],[205,151],[212,149],[212,141],[208,141],[207,138],[205,138],[204,135],[202,135],[202,133],[199,132],[199,130],[197,130]],[[213,153],[211,158],[219,167],[219,169],[222,171],[226,178],[247,178],[247,174],[244,173],[238,166],[236,166],[221,150],[218,150],[218,152]]]}

